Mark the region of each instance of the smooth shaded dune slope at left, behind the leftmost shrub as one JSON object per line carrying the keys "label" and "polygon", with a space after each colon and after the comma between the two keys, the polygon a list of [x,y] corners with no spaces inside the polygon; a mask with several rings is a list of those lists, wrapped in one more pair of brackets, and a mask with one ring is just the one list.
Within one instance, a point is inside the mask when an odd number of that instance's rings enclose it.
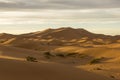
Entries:
{"label": "smooth shaded dune slope at left, behind the leftmost shrub", "polygon": [[38,59],[41,58],[40,52],[4,45],[0,45],[0,56],[2,58],[9,57],[11,59],[12,58],[25,59],[27,56],[33,56]]}

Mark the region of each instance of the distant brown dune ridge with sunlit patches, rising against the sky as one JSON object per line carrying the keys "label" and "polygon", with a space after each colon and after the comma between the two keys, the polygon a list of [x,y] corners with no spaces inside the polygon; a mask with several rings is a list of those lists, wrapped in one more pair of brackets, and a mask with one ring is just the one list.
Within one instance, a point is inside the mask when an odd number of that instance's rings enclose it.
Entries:
{"label": "distant brown dune ridge with sunlit patches, rising against the sky", "polygon": [[[119,43],[120,36],[110,36],[103,34],[94,34],[85,29],[74,29],[74,28],[58,28],[58,29],[47,29],[44,31],[38,31],[28,34],[11,35],[11,34],[0,34],[0,43],[9,44],[13,46],[21,45],[80,45],[82,44],[93,44],[93,45],[104,45],[111,43]],[[30,44],[31,43],[31,44]],[[28,46],[29,46],[28,45]],[[33,45],[33,46],[34,46]],[[36,45],[38,46],[38,45]]]}

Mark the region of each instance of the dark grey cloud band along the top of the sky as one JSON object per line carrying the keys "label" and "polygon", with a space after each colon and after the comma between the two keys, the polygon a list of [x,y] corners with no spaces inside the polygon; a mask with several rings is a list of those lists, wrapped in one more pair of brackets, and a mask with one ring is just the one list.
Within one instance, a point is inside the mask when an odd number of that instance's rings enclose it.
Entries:
{"label": "dark grey cloud band along the top of the sky", "polygon": [[120,8],[120,0],[0,0],[1,9]]}

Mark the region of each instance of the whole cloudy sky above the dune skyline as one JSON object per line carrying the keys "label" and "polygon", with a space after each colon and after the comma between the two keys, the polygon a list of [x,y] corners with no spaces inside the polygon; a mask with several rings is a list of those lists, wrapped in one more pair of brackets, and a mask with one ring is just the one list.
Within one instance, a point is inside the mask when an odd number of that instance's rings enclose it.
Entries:
{"label": "whole cloudy sky above the dune skyline", "polygon": [[120,35],[120,0],[0,0],[0,33],[59,27]]}

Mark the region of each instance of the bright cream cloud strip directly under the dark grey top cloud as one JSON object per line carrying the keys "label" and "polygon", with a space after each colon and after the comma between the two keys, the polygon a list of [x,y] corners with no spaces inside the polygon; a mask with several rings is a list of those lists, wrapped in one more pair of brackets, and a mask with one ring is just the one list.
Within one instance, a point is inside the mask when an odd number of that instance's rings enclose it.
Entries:
{"label": "bright cream cloud strip directly under the dark grey top cloud", "polygon": [[0,18],[91,19],[120,18],[120,8],[80,10],[1,11]]}

